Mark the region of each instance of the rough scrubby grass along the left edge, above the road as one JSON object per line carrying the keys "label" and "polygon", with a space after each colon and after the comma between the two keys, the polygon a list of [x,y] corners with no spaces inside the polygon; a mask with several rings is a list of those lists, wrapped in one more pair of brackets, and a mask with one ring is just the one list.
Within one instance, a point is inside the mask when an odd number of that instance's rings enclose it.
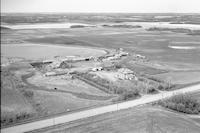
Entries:
{"label": "rough scrubby grass along the left edge, above the road", "polygon": [[13,124],[30,118],[35,110],[26,97],[32,97],[33,93],[20,89],[25,86],[12,73],[1,71],[1,126]]}

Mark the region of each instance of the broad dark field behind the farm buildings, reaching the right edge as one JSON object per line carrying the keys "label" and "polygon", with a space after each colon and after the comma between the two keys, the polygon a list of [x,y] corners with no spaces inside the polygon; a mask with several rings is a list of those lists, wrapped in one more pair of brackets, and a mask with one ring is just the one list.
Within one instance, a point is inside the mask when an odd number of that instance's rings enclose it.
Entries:
{"label": "broad dark field behind the farm buildings, reaching the right edge", "polygon": [[[110,29],[110,32],[113,29]],[[199,61],[199,49],[192,50],[175,50],[168,47],[171,42],[199,42],[198,36],[186,36],[179,33],[153,33],[132,30],[132,32],[123,34],[124,31],[117,31],[121,34],[107,34],[101,35],[107,32],[107,28],[99,30],[91,29],[90,32],[86,31],[70,31],[74,36],[57,36],[57,37],[44,37],[28,39],[27,41],[36,43],[53,43],[53,44],[66,44],[66,45],[81,45],[81,46],[95,46],[106,48],[119,48],[122,47],[129,52],[138,52],[146,55],[149,59],[169,62],[169,63],[184,63],[194,65],[200,64]],[[116,32],[116,30],[114,30]],[[128,30],[129,31],[129,30]],[[82,33],[82,35],[80,35]],[[138,36],[140,35],[145,36]],[[77,36],[76,36],[77,34]],[[147,35],[156,35],[154,36]],[[192,66],[191,66],[192,67]]]}

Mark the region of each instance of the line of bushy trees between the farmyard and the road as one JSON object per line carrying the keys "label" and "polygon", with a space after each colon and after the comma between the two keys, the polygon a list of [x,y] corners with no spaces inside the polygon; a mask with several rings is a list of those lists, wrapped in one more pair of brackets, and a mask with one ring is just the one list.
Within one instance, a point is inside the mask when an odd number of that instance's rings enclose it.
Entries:
{"label": "line of bushy trees between the farmyard and the road", "polygon": [[[103,79],[91,73],[76,73],[77,76],[82,77],[89,83],[97,84],[97,88],[102,91],[117,94],[120,100],[128,100],[139,97],[141,94],[155,94],[158,93],[158,84],[145,78],[140,78],[138,81],[130,81],[129,83],[116,83]],[[102,86],[98,87],[98,86]]]}

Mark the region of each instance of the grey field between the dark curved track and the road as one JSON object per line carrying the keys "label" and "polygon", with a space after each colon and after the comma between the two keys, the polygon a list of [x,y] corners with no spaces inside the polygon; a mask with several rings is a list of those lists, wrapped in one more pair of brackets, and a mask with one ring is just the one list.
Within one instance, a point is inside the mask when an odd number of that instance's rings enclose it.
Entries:
{"label": "grey field between the dark curved track and the road", "polygon": [[[73,112],[83,110],[90,107],[105,105],[109,98],[96,98],[85,96],[84,94],[75,95],[70,93],[57,92],[52,93],[48,91],[37,90],[34,91],[34,100],[38,102],[39,106],[45,112],[45,115],[55,115],[66,112]],[[44,116],[44,115],[43,115]]]}

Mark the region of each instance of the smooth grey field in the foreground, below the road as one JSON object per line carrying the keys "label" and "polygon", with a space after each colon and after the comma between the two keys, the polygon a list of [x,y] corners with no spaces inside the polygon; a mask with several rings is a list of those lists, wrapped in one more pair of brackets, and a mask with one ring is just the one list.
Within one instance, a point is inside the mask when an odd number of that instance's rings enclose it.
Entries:
{"label": "smooth grey field in the foreground, below the road", "polygon": [[162,108],[142,106],[132,109],[107,113],[75,122],[36,130],[43,133],[198,133],[200,127],[189,117],[175,114]]}

